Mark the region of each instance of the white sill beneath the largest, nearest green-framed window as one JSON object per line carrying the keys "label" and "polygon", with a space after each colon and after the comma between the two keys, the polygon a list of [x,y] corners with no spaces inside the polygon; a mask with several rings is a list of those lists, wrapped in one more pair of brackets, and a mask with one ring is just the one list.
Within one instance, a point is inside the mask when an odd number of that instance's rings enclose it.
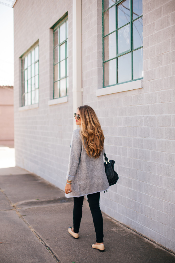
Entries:
{"label": "white sill beneath the largest, nearest green-framed window", "polygon": [[112,87],[107,87],[107,88],[102,88],[102,89],[97,89],[96,90],[96,96],[103,96],[103,95],[108,95],[108,94],[113,94],[113,93],[118,93],[122,91],[128,91],[132,89],[141,89],[142,88],[142,81],[143,79],[131,81],[131,82],[126,82],[123,84],[118,84]]}

